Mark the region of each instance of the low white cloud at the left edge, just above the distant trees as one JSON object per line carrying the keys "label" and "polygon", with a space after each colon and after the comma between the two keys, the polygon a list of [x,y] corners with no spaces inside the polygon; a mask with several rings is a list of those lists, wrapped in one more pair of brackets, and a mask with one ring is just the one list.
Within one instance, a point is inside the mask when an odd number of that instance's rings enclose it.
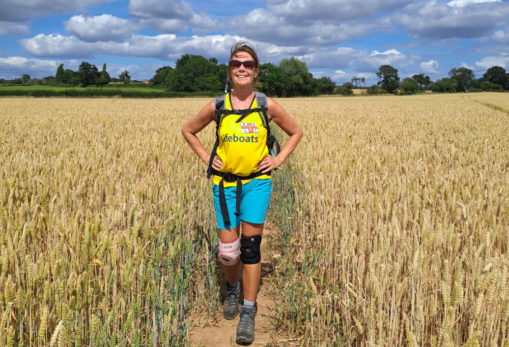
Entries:
{"label": "low white cloud at the left edge, just above the distant trees", "polygon": [[0,58],[0,76],[13,79],[29,74],[32,78],[42,78],[54,75],[60,64],[56,60],[27,59],[21,56]]}

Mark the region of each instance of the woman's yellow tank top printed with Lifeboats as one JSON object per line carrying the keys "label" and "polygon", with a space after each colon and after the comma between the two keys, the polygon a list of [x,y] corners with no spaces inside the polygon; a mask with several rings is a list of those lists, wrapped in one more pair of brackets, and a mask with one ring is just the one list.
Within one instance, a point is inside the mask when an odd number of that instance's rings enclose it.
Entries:
{"label": "woman's yellow tank top printed with Lifeboats", "polygon": [[[253,97],[250,109],[257,108],[256,97]],[[224,108],[232,110],[230,93],[224,97]],[[248,176],[257,172],[258,163],[269,154],[267,148],[267,129],[263,126],[263,115],[261,112],[251,112],[242,121],[237,123],[241,117],[238,114],[223,115],[219,122],[217,135],[219,144],[217,155],[223,162],[221,172],[230,172],[238,176]],[[261,175],[252,179],[270,178]],[[243,179],[242,184],[252,179]],[[219,185],[221,177],[212,178],[212,183]],[[225,187],[236,186],[236,182],[224,181]]]}

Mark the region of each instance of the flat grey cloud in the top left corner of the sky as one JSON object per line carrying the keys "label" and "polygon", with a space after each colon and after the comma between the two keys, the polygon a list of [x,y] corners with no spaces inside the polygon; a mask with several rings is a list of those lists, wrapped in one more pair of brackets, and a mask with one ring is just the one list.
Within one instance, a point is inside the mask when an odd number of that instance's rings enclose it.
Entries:
{"label": "flat grey cloud in the top left corner of the sky", "polygon": [[32,18],[75,12],[89,6],[95,7],[113,1],[116,0],[2,0],[0,2],[0,21],[26,22]]}

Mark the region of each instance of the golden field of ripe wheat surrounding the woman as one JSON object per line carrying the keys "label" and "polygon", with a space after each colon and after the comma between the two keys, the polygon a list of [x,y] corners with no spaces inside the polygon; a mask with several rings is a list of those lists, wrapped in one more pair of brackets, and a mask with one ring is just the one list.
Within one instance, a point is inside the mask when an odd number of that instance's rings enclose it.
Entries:
{"label": "golden field of ripe wheat surrounding the woman", "polygon": [[[278,101],[304,138],[273,180],[273,325],[509,346],[509,96]],[[184,345],[191,313],[221,314],[210,182],[180,134],[206,102],[0,98],[0,346]]]}

